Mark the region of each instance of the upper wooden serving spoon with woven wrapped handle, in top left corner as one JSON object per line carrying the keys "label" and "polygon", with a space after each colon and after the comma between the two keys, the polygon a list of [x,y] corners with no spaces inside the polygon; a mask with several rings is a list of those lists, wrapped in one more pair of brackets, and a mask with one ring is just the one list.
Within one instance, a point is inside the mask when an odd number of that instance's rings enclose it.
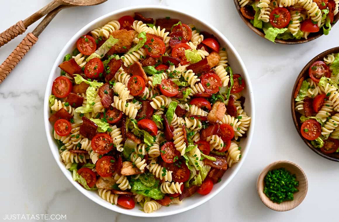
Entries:
{"label": "upper wooden serving spoon with woven wrapped handle, in top left corner", "polygon": [[38,12],[29,16],[25,20],[20,20],[16,24],[12,25],[6,31],[0,34],[0,47],[11,41],[18,35],[24,33],[29,25],[32,25],[34,22],[38,21],[44,15],[52,12],[54,9],[60,5],[68,6],[88,6],[88,5],[98,5],[107,0],[53,0],[45,7],[41,8]]}

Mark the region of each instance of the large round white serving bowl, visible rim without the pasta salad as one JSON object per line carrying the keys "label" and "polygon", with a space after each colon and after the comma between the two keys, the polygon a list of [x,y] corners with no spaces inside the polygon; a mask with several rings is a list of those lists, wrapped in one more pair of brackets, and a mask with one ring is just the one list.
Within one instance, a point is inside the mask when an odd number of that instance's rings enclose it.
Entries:
{"label": "large round white serving bowl, visible rim without the pasta salad", "polygon": [[[153,17],[153,18],[164,18],[164,17],[171,17],[171,18],[177,18],[180,19],[182,22],[190,24],[193,23],[199,30],[207,31],[213,35],[215,35],[220,42],[221,47],[225,47],[228,55],[228,64],[232,67],[234,73],[239,73],[242,75],[242,77],[245,80],[246,83],[246,89],[243,91],[244,97],[246,97],[245,101],[245,111],[246,113],[251,116],[251,126],[248,129],[247,137],[243,138],[241,141],[241,152],[242,157],[239,163],[236,163],[233,165],[232,168],[227,169],[226,173],[223,175],[221,182],[214,185],[213,190],[210,194],[201,196],[199,194],[196,194],[190,198],[186,198],[181,205],[173,204],[169,207],[162,207],[158,211],[155,211],[151,214],[146,214],[139,210],[141,208],[139,205],[136,205],[134,209],[124,209],[122,207],[112,205],[111,203],[108,203],[106,200],[101,199],[101,197],[98,195],[97,191],[88,191],[84,189],[79,183],[73,181],[72,174],[70,171],[68,171],[64,164],[62,163],[60,159],[60,154],[58,151],[57,144],[54,140],[52,129],[53,126],[49,123],[48,118],[50,115],[49,112],[49,106],[48,106],[48,97],[52,92],[52,84],[55,78],[60,76],[60,68],[58,65],[62,62],[64,55],[67,53],[72,53],[73,49],[76,47],[76,41],[78,38],[82,35],[87,34],[88,32],[92,31],[94,28],[97,28],[99,26],[102,26],[106,24],[106,22],[111,20],[118,20],[120,17],[125,15],[134,15],[134,12],[139,12],[143,14],[145,17]],[[136,6],[136,7],[128,7],[123,8],[111,13],[108,13],[104,16],[101,16],[100,18],[95,19],[94,21],[88,23],[83,28],[80,29],[79,32],[77,32],[65,45],[65,47],[60,52],[58,58],[56,59],[51,74],[49,75],[47,87],[46,87],[46,93],[45,93],[45,99],[44,99],[44,122],[45,122],[45,129],[46,129],[46,135],[49,147],[51,148],[52,154],[59,165],[61,171],[64,173],[66,178],[71,182],[83,195],[88,197],[89,199],[93,200],[94,202],[100,204],[103,207],[106,207],[108,209],[114,210],[116,212],[126,214],[126,215],[132,215],[132,216],[139,216],[139,217],[162,217],[162,216],[169,216],[178,214],[187,210],[190,210],[194,207],[197,207],[206,201],[210,200],[212,197],[217,195],[237,174],[238,170],[240,169],[242,163],[245,161],[245,158],[248,153],[248,149],[250,148],[250,144],[252,141],[253,131],[254,131],[254,120],[255,120],[255,111],[254,111],[254,96],[253,96],[253,89],[250,82],[250,76],[247,73],[245,64],[241,60],[239,54],[233,47],[233,45],[224,37],[216,28],[214,28],[212,25],[207,24],[206,22],[194,18],[186,13],[179,12],[175,9],[170,9],[167,6],[154,6],[154,5],[147,5],[147,6]]]}

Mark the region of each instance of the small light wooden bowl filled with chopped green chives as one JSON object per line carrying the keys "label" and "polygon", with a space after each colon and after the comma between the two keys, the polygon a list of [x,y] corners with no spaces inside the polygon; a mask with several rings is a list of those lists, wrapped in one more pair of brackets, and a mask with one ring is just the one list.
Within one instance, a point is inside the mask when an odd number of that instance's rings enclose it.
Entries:
{"label": "small light wooden bowl filled with chopped green chives", "polygon": [[307,194],[304,171],[295,163],[281,160],[266,166],[259,174],[257,191],[261,201],[276,211],[297,207]]}

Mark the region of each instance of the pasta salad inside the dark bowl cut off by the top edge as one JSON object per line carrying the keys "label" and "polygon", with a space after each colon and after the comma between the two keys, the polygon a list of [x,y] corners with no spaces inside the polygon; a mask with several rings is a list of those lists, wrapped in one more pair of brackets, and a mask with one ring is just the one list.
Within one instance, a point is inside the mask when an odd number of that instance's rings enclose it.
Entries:
{"label": "pasta salad inside the dark bowl cut off by the top edge", "polygon": [[339,11],[339,0],[238,1],[242,15],[272,42],[276,38],[307,39],[318,32],[328,35]]}

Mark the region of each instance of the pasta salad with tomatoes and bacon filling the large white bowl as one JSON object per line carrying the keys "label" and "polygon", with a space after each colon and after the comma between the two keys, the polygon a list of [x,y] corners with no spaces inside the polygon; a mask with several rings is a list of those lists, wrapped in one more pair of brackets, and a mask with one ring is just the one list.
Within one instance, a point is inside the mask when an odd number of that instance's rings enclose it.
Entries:
{"label": "pasta salad with tomatoes and bacon filling the large white bowl", "polygon": [[152,213],[210,193],[240,161],[245,81],[214,35],[135,13],[81,36],[72,54],[53,82],[49,121],[85,189]]}

